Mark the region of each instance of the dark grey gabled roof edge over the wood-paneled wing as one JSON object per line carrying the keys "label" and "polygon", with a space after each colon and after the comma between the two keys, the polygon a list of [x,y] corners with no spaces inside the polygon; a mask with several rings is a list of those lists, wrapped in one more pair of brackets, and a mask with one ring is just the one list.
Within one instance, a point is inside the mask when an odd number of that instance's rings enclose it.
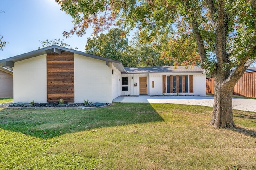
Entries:
{"label": "dark grey gabled roof edge over the wood-paneled wing", "polygon": [[10,58],[7,58],[7,59],[2,59],[2,60],[0,60],[0,65],[1,66],[14,67],[14,63],[17,62],[17,61],[22,61],[24,59],[29,59],[29,58],[32,58],[32,57],[36,57],[36,56],[43,55],[43,54],[48,54],[48,53],[61,54],[61,51],[67,51],[67,52],[70,52],[70,53],[76,53],[76,54],[79,54],[79,55],[84,55],[86,57],[91,57],[91,58],[94,58],[94,59],[103,60],[103,61],[106,61],[106,65],[109,65],[109,63],[113,63],[113,65],[119,71],[121,71],[122,73],[126,73],[126,70],[124,69],[124,66],[122,65],[122,63],[120,61],[117,61],[117,60],[114,60],[114,59],[109,59],[109,58],[106,58],[106,57],[100,57],[98,55],[92,55],[92,54],[89,54],[89,53],[84,53],[84,52],[77,51],[77,50],[74,50],[74,49],[60,47],[60,46],[57,46],[57,45],[52,45],[50,47],[45,47],[45,48],[42,48],[42,49],[38,49],[38,50],[35,50],[35,51],[31,51],[31,52],[28,52],[28,53],[24,53],[24,54],[21,54],[21,55],[10,57]]}

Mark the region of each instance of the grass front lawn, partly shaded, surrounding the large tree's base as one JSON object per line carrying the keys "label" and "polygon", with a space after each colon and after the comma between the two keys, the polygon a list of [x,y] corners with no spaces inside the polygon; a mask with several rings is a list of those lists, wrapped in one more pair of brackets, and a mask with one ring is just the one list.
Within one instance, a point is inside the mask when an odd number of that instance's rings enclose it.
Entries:
{"label": "grass front lawn, partly shaded, surrounding the large tree's base", "polygon": [[212,107],[113,103],[0,110],[0,169],[256,169],[256,113],[209,126]]}

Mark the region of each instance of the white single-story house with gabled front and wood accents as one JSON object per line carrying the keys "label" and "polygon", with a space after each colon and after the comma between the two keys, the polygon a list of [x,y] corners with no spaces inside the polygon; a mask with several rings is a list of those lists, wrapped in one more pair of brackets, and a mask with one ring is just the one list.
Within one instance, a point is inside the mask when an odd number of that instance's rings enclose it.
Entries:
{"label": "white single-story house with gabled front and wood accents", "polygon": [[112,103],[120,95],[202,95],[203,69],[124,67],[120,61],[52,45],[0,60],[13,67],[14,102]]}

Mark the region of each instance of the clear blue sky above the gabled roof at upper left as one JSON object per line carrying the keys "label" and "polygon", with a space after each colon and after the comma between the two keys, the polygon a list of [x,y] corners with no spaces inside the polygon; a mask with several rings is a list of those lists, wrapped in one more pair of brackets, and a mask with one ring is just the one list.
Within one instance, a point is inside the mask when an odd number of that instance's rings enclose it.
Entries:
{"label": "clear blue sky above the gabled roof at upper left", "polygon": [[72,27],[72,18],[60,10],[55,0],[0,0],[0,35],[9,43],[0,51],[0,59],[27,53],[42,47],[40,41],[64,39],[70,47],[84,51],[92,29],[78,37],[64,38]]}

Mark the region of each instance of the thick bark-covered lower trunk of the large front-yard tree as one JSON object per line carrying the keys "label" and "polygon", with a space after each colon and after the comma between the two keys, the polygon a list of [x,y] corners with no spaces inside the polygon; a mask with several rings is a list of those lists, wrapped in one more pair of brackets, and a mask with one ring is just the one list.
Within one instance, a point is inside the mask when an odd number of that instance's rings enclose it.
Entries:
{"label": "thick bark-covered lower trunk of the large front-yard tree", "polygon": [[223,82],[214,83],[214,104],[213,115],[210,125],[214,128],[233,128],[236,127],[233,121],[232,95],[234,87],[223,85]]}

